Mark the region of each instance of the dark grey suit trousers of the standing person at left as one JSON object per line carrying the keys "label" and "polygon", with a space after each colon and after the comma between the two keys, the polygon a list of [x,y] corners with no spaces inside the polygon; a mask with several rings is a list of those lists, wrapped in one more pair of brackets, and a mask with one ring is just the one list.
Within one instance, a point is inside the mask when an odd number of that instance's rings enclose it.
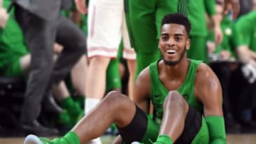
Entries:
{"label": "dark grey suit trousers of the standing person at left", "polygon": [[[51,84],[64,79],[86,51],[86,38],[80,29],[68,18],[46,21],[15,6],[16,21],[23,31],[26,44],[31,52],[31,71],[21,111],[21,121],[30,123],[41,112],[41,102]],[[63,45],[63,52],[53,62],[53,44]]]}

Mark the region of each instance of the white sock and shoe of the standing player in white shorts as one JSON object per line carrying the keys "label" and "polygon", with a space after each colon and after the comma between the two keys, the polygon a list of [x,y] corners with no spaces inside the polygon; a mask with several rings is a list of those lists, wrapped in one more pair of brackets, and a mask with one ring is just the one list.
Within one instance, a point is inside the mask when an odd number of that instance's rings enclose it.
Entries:
{"label": "white sock and shoe of the standing player in white shorts", "polygon": [[[100,99],[92,99],[92,98],[86,98],[85,99],[85,114],[88,113],[91,109],[93,109],[98,103],[100,102]],[[95,138],[90,140],[87,144],[102,144],[100,138]]]}

